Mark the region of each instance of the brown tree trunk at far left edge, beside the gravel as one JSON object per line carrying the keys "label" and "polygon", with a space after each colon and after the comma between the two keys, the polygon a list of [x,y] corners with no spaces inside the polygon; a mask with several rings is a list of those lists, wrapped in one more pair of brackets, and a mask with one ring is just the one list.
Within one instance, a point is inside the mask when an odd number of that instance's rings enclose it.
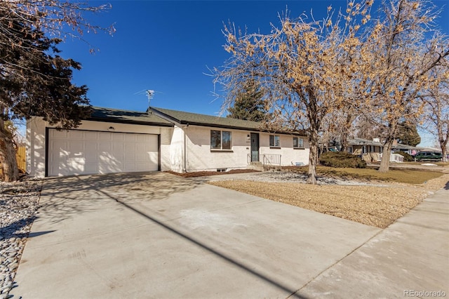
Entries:
{"label": "brown tree trunk at far left edge, beside the gravel", "polygon": [[0,117],[0,164],[3,167],[4,181],[13,182],[19,179],[17,159],[13,137],[5,130],[5,122]]}

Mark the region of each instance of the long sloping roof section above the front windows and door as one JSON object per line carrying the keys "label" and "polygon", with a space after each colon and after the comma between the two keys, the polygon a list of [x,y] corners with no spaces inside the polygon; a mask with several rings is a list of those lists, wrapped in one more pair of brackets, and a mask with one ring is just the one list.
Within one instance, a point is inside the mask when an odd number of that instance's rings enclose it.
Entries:
{"label": "long sloping roof section above the front windows and door", "polygon": [[[210,126],[213,128],[233,128],[237,130],[251,131],[271,131],[264,128],[262,122],[246,121],[243,119],[232,119],[230,117],[214,117],[213,115],[197,114],[191,112],[182,112],[177,110],[149,107],[149,112],[157,114],[164,119],[175,121],[177,124],[194,125],[194,126]],[[282,131],[279,133],[288,133],[300,135],[297,132]],[[301,134],[304,135],[304,134]]]}

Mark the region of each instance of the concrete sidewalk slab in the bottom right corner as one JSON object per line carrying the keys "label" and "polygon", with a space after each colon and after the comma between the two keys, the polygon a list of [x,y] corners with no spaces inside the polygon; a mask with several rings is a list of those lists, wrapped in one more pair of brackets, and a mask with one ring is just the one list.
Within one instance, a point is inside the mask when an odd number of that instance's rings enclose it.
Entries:
{"label": "concrete sidewalk slab in the bottom right corner", "polygon": [[298,292],[308,298],[449,296],[449,183]]}

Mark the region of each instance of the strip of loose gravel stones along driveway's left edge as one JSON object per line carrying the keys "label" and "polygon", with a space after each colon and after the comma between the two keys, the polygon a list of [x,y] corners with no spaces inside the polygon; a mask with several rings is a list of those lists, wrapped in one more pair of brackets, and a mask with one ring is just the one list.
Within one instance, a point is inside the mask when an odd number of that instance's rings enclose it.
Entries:
{"label": "strip of loose gravel stones along driveway's left edge", "polygon": [[0,298],[10,298],[15,272],[39,207],[41,182],[0,182]]}

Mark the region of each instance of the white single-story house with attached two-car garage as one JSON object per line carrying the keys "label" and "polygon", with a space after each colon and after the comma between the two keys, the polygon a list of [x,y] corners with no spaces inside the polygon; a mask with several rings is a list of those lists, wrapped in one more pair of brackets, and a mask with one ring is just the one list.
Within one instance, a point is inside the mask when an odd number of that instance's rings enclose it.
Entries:
{"label": "white single-story house with attached two-car garage", "polygon": [[252,163],[308,164],[304,135],[254,121],[150,107],[93,107],[76,129],[27,122],[27,170],[36,177],[137,171],[227,171]]}

